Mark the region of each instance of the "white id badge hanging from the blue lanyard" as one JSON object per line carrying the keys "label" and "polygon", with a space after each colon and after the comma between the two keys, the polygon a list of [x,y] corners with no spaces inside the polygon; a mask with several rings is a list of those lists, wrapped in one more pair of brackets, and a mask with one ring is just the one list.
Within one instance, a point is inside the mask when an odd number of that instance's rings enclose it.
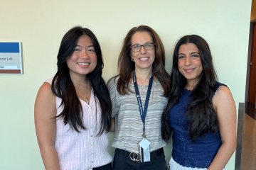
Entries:
{"label": "white id badge hanging from the blue lanyard", "polygon": [[143,138],[141,142],[139,142],[139,150],[141,156],[141,162],[150,162],[150,144],[146,138]]}

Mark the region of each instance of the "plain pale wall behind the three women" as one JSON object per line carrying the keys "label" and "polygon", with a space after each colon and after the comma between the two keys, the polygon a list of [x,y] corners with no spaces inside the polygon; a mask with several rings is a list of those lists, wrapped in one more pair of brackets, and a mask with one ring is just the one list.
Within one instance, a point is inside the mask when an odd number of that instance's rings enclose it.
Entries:
{"label": "plain pale wall behind the three women", "polygon": [[[55,74],[60,40],[71,27],[82,25],[97,35],[105,80],[117,74],[122,40],[133,26],[149,25],[159,33],[168,72],[178,38],[202,35],[210,44],[219,80],[228,84],[238,106],[245,101],[250,5],[251,0],[1,0],[0,41],[22,42],[24,74],[0,75],[0,169],[44,169],[33,104],[39,86]],[[169,160],[170,145],[165,151]],[[235,154],[227,169],[234,165]]]}

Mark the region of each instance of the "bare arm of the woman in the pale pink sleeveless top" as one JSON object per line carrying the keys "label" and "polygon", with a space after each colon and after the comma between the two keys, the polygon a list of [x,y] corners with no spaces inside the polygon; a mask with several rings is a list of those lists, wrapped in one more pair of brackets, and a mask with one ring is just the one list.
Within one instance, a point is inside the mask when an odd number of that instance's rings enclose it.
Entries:
{"label": "bare arm of the woman in the pale pink sleeveless top", "polygon": [[58,154],[55,150],[56,135],[56,96],[50,84],[41,86],[36,96],[35,125],[38,145],[46,170],[59,170]]}

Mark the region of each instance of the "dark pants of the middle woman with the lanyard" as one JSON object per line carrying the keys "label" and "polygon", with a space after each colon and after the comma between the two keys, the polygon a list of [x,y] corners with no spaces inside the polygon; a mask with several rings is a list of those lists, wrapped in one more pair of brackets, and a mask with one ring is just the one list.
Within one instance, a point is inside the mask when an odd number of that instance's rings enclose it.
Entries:
{"label": "dark pants of the middle woman with the lanyard", "polygon": [[166,170],[164,149],[151,152],[150,162],[132,161],[129,152],[115,149],[113,170]]}

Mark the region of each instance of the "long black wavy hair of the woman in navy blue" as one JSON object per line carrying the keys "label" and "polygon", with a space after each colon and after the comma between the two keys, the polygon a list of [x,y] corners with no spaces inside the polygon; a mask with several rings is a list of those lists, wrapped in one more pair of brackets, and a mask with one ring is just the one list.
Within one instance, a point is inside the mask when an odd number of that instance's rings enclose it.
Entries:
{"label": "long black wavy hair of the woman in navy blue", "polygon": [[203,71],[198,77],[198,84],[192,91],[192,101],[188,105],[188,134],[191,140],[208,133],[218,132],[217,114],[213,108],[212,98],[215,93],[217,75],[213,67],[213,59],[210,47],[206,40],[199,35],[185,35],[178,40],[174,48],[173,64],[171,69],[171,91],[167,95],[168,105],[162,115],[161,133],[165,141],[171,137],[168,112],[179,101],[181,91],[185,88],[186,78],[178,71],[178,50],[183,44],[193,43],[198,47]]}

